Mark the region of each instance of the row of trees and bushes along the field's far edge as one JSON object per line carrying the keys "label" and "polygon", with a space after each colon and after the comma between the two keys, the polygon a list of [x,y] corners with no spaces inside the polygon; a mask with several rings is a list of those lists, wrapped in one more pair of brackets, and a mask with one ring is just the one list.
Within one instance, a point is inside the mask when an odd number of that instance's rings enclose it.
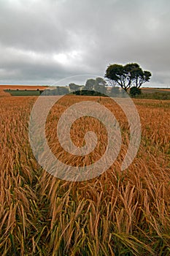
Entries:
{"label": "row of trees and bushes along the field's far edge", "polygon": [[[143,83],[150,80],[150,71],[142,70],[139,64],[128,63],[109,64],[103,78],[88,79],[85,86],[69,83],[69,86],[57,86],[55,89],[45,90],[43,95],[107,95],[111,97],[127,97],[125,91],[132,97],[141,94],[139,89]],[[112,89],[109,88],[111,86]]]}

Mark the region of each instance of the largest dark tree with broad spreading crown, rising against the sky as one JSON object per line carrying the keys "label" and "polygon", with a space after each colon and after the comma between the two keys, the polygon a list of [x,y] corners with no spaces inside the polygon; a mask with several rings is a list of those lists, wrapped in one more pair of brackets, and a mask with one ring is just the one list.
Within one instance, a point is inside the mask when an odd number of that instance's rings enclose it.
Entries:
{"label": "largest dark tree with broad spreading crown, rising against the sky", "polygon": [[114,85],[119,85],[125,91],[135,86],[141,87],[143,83],[150,80],[151,73],[143,71],[139,64],[129,63],[125,66],[120,64],[110,64],[107,67],[105,78],[112,80]]}

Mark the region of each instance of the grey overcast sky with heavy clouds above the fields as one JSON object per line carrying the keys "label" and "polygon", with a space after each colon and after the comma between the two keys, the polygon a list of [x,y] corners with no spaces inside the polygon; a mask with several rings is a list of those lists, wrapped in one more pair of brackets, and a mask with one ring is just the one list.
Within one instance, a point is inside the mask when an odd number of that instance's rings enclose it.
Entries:
{"label": "grey overcast sky with heavy clouds above the fields", "polygon": [[0,83],[103,76],[137,62],[170,87],[169,0],[0,0]]}

